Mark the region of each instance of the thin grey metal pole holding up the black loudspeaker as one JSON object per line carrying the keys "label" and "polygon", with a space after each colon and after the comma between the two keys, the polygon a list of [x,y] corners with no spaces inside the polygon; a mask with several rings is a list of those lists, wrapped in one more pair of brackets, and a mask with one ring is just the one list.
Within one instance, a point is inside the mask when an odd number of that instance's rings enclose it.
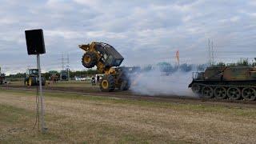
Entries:
{"label": "thin grey metal pole holding up the black loudspeaker", "polygon": [[39,96],[40,96],[40,105],[41,105],[41,113],[40,113],[40,122],[42,133],[45,133],[47,128],[44,121],[44,106],[43,106],[43,96],[42,96],[42,77],[41,77],[41,66],[40,66],[40,54],[37,55],[37,64],[38,64],[38,75],[39,75]]}

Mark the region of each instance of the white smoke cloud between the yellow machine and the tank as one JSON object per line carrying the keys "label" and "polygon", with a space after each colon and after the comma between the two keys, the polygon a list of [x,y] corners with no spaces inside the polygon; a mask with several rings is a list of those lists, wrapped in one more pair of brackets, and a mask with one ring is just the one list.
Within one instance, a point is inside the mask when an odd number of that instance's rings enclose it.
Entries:
{"label": "white smoke cloud between the yellow machine and the tank", "polygon": [[188,88],[192,82],[191,72],[177,71],[166,75],[158,69],[150,70],[138,74],[132,81],[130,90],[135,94],[196,97]]}

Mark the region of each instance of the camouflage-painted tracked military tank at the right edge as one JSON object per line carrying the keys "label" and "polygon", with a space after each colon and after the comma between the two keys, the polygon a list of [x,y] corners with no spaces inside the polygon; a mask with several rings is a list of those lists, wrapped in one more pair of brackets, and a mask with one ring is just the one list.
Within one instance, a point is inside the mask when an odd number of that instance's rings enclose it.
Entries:
{"label": "camouflage-painted tracked military tank at the right edge", "polygon": [[194,72],[189,88],[201,98],[256,99],[256,67],[211,66]]}

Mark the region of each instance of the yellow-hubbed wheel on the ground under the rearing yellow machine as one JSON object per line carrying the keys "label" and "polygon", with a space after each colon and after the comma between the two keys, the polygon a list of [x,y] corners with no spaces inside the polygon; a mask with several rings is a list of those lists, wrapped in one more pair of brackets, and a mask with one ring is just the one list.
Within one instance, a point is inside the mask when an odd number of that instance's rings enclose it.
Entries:
{"label": "yellow-hubbed wheel on the ground under the rearing yellow machine", "polygon": [[114,77],[112,75],[106,75],[102,78],[101,90],[102,91],[113,91],[114,90]]}

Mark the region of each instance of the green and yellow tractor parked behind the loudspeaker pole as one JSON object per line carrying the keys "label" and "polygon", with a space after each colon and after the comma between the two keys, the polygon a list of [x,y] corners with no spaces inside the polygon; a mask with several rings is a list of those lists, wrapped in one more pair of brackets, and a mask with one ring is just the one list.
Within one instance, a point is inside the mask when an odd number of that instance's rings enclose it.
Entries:
{"label": "green and yellow tractor parked behind the loudspeaker pole", "polygon": [[[30,69],[26,72],[25,86],[39,86],[38,69]],[[46,85],[46,78],[42,77],[42,86]]]}

